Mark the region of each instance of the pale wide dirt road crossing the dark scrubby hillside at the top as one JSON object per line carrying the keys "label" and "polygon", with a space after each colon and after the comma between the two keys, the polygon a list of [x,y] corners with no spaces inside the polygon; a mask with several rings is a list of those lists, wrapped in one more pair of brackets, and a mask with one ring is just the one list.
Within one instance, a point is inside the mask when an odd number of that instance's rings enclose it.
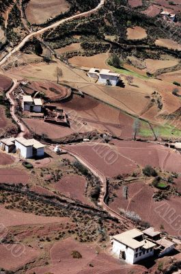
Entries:
{"label": "pale wide dirt road crossing the dark scrubby hillside at the top", "polygon": [[80,18],[80,17],[83,17],[83,16],[87,16],[89,14],[92,14],[92,13],[100,10],[100,8],[102,7],[102,5],[104,5],[105,1],[106,0],[100,0],[100,3],[98,4],[98,6],[96,8],[94,8],[93,10],[89,10],[88,12],[83,12],[81,14],[76,14],[76,15],[70,16],[68,18],[61,19],[60,21],[57,21],[56,23],[53,23],[52,25],[50,25],[48,27],[44,27],[43,29],[39,29],[37,32],[31,32],[31,34],[27,35],[20,42],[19,45],[17,45],[16,47],[14,47],[14,49],[12,49],[12,51],[10,51],[10,53],[8,53],[7,55],[5,55],[5,57],[0,61],[0,66],[2,64],[4,64],[8,60],[8,58],[10,58],[10,56],[13,53],[16,53],[16,51],[19,51],[31,37],[39,35],[39,34],[42,34],[43,32],[46,32],[48,29],[53,29],[53,27],[58,27],[59,25],[65,23],[67,21],[71,21],[73,19]]}

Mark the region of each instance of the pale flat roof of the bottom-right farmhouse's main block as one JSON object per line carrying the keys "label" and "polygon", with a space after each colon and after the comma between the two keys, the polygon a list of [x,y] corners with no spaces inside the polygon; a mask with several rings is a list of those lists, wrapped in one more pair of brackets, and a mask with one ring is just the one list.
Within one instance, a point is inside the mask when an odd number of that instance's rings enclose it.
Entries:
{"label": "pale flat roof of the bottom-right farmhouse's main block", "polygon": [[131,229],[127,232],[123,232],[121,234],[113,236],[113,239],[121,242],[124,245],[128,245],[128,247],[132,249],[137,249],[138,247],[150,249],[156,246],[153,242],[150,242],[150,240],[136,240],[135,238],[139,236],[143,236],[143,232],[139,231],[138,229]]}

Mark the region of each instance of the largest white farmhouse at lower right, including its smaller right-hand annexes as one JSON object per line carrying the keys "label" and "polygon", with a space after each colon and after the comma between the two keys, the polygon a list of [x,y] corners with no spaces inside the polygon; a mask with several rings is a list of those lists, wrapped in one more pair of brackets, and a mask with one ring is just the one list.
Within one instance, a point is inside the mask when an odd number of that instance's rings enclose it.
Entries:
{"label": "largest white farmhouse at lower right, including its smaller right-hand annexes", "polygon": [[113,254],[128,264],[135,264],[150,256],[161,257],[173,251],[174,243],[161,238],[154,227],[143,230],[131,229],[111,237]]}

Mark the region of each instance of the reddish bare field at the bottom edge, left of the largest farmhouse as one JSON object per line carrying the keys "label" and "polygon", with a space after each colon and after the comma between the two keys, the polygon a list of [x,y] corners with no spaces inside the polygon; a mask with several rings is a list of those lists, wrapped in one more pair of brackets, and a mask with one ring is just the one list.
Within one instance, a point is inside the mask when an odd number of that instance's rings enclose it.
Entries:
{"label": "reddish bare field at the bottom edge, left of the largest farmhouse", "polygon": [[[97,251],[99,249],[99,251]],[[79,251],[82,258],[74,259],[71,256],[72,251]],[[143,266],[127,266],[127,264],[120,263],[112,256],[102,251],[96,244],[82,244],[76,242],[72,238],[66,238],[61,242],[55,243],[51,251],[51,264],[49,266],[40,266],[26,274],[35,271],[36,274],[53,273],[53,274],[128,274],[130,269],[135,274],[142,272],[145,268]],[[92,264],[94,267],[89,266]]]}

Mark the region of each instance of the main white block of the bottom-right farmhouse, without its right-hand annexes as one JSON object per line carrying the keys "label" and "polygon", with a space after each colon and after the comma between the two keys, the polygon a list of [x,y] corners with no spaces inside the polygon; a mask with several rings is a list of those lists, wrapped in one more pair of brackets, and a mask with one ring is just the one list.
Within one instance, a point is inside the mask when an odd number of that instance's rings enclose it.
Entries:
{"label": "main white block of the bottom-right farmhouse, without its right-hand annexes", "polygon": [[143,232],[131,229],[111,238],[113,254],[128,264],[135,264],[140,260],[154,255],[156,244],[143,237]]}

